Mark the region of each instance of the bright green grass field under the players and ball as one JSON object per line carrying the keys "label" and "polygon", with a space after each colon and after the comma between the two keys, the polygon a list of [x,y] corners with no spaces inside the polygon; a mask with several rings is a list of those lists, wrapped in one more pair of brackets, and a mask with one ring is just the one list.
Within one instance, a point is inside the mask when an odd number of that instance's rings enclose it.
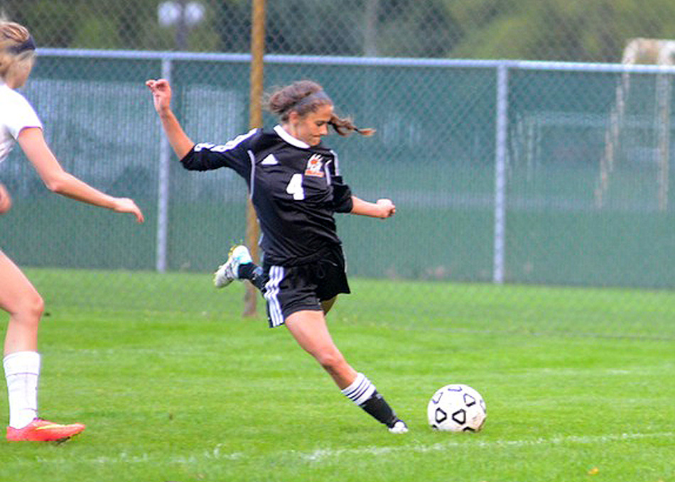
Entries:
{"label": "bright green grass field under the players and ball", "polygon": [[[242,318],[242,285],[28,274],[48,311],[41,415],[87,430],[0,443],[2,482],[675,481],[670,292],[353,280],[330,326],[409,423],[392,435],[286,329]],[[485,397],[482,432],[427,427],[446,383]]]}

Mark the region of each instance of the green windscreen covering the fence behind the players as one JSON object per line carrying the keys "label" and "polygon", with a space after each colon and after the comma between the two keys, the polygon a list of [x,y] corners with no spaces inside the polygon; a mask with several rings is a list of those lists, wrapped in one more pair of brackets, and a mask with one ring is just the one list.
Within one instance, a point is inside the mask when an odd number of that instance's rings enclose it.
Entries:
{"label": "green windscreen covering the fence behind the players", "polygon": [[[23,94],[57,158],[146,224],[50,194],[18,148],[0,179],[14,209],[1,248],[29,267],[153,270],[161,128],[147,78],[159,58],[43,55]],[[166,68],[166,63],[165,63]],[[325,144],[355,195],[390,197],[393,219],[338,214],[350,275],[490,282],[495,268],[497,69],[485,65],[269,62],[266,89],[317,80],[336,111],[377,129]],[[195,142],[248,130],[249,66],[171,59],[174,109]],[[505,153],[507,283],[675,287],[669,78],[509,69]],[[617,102],[620,99],[621,102]],[[266,126],[274,119],[266,116]],[[188,172],[171,155],[168,270],[210,271],[244,239],[245,183]],[[77,204],[77,205],[76,205]]]}

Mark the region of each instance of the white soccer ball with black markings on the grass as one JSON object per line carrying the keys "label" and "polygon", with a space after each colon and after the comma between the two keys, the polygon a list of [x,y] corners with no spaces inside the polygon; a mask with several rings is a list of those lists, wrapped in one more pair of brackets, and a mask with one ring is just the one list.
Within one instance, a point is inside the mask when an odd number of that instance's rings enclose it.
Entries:
{"label": "white soccer ball with black markings on the grass", "polygon": [[469,385],[446,385],[436,390],[426,415],[431,428],[448,432],[478,432],[487,417],[485,400]]}

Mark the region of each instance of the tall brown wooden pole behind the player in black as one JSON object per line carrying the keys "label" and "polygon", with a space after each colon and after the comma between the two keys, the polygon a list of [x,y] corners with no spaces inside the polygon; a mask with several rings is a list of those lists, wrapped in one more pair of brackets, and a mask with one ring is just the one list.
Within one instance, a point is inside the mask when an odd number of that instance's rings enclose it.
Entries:
{"label": "tall brown wooden pole behind the player in black", "polygon": [[[253,0],[251,28],[251,93],[249,108],[250,128],[262,127],[263,65],[265,53],[265,0]],[[246,207],[246,244],[251,256],[259,263],[258,253],[259,227],[251,199]],[[244,293],[244,316],[256,314],[257,289],[251,283],[246,284]]]}

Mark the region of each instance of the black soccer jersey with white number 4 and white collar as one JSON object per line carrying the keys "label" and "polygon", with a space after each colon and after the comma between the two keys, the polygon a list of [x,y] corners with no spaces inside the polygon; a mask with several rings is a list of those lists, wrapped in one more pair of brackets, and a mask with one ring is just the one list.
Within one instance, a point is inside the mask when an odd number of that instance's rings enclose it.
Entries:
{"label": "black soccer jersey with white number 4 and white collar", "polygon": [[352,193],[333,150],[308,146],[276,126],[253,129],[223,145],[196,144],[180,162],[189,170],[232,168],[244,177],[266,263],[308,263],[340,245],[333,214],[352,210]]}

